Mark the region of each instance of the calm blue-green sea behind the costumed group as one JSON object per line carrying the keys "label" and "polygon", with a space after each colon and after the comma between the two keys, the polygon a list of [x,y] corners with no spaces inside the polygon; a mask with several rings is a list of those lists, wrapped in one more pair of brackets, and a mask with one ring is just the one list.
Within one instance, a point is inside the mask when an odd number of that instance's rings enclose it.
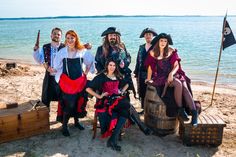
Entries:
{"label": "calm blue-green sea behind the costumed group", "polygon": [[[146,27],[157,33],[172,36],[173,47],[178,50],[181,64],[192,81],[214,83],[222,39],[223,16],[132,16],[132,17],[64,17],[0,19],[0,58],[15,59],[36,64],[32,57],[37,32],[40,30],[40,46],[50,42],[52,28],[59,27],[64,34],[75,30],[83,43],[92,44],[95,55],[102,44],[102,32],[110,26],[117,27],[121,39],[131,54],[131,70],[134,70],[139,38]],[[236,36],[236,16],[227,21]],[[222,51],[218,84],[236,85],[236,44]]]}

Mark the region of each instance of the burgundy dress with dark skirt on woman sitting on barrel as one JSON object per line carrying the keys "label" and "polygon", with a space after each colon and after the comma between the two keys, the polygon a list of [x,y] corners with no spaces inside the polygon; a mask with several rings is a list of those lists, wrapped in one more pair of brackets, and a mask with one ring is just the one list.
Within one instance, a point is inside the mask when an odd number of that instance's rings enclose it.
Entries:
{"label": "burgundy dress with dark skirt on woman sitting on barrel", "polygon": [[[180,57],[177,54],[177,50],[174,50],[172,54],[168,58],[164,58],[161,60],[157,60],[152,57],[150,54],[145,60],[145,66],[148,68],[151,66],[152,69],[152,85],[156,87],[157,94],[161,96],[162,91],[164,89],[165,82],[168,79],[168,75],[171,72],[174,63],[178,61],[179,69],[174,75],[175,78],[178,78],[181,81],[186,81],[188,89],[192,94],[192,90],[190,87],[191,80],[185,75],[185,72],[181,68]],[[162,98],[164,103],[167,106],[166,114],[169,117],[174,117],[177,115],[177,105],[174,99],[174,88],[168,87],[165,96]],[[183,105],[185,105],[185,101],[183,100]]]}

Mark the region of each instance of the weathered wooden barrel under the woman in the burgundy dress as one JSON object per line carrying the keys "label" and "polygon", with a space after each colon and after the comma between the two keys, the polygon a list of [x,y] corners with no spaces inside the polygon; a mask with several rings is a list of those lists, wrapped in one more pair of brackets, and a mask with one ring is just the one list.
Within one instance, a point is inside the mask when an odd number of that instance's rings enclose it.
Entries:
{"label": "weathered wooden barrel under the woman in the burgundy dress", "polygon": [[144,100],[144,122],[154,134],[165,136],[176,132],[179,121],[177,117],[166,116],[166,105],[152,85],[147,86]]}

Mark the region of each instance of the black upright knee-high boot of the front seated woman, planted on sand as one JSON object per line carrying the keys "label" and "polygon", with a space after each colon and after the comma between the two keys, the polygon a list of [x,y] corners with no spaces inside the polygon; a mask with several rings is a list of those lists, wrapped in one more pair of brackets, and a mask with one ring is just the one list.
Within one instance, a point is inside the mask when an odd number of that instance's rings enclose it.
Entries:
{"label": "black upright knee-high boot of the front seated woman, planted on sand", "polygon": [[125,124],[125,121],[126,121],[126,118],[119,117],[115,129],[112,132],[111,137],[107,141],[107,147],[111,147],[111,149],[116,150],[116,151],[121,151],[121,146],[117,145],[117,140],[118,140],[118,136],[121,132],[121,129],[123,128],[123,126]]}

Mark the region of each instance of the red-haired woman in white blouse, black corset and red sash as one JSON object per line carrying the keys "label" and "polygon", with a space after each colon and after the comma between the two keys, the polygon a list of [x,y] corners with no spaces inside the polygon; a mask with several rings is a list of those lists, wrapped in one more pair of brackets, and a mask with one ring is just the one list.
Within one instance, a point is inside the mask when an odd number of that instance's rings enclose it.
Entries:
{"label": "red-haired woman in white blouse, black corset and red sash", "polygon": [[[61,49],[54,60],[57,71],[55,79],[59,83],[61,94],[58,105],[57,120],[62,121],[62,134],[70,136],[67,123],[74,117],[75,127],[84,130],[78,118],[86,116],[85,86],[86,74],[95,71],[94,57],[85,49],[75,31],[69,30],[65,35],[66,47]],[[85,71],[83,70],[85,65]]]}

